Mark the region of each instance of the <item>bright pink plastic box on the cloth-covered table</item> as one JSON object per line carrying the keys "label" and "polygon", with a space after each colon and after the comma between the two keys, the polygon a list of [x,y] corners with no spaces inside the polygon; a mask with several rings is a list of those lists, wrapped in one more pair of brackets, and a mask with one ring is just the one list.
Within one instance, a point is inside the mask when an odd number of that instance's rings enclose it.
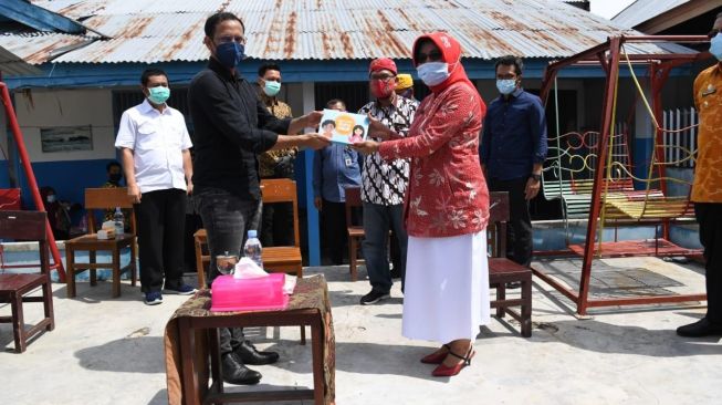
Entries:
{"label": "bright pink plastic box on the cloth-covered table", "polygon": [[212,312],[270,311],[289,305],[283,293],[284,273],[271,273],[257,279],[233,279],[220,276],[211,284]]}

